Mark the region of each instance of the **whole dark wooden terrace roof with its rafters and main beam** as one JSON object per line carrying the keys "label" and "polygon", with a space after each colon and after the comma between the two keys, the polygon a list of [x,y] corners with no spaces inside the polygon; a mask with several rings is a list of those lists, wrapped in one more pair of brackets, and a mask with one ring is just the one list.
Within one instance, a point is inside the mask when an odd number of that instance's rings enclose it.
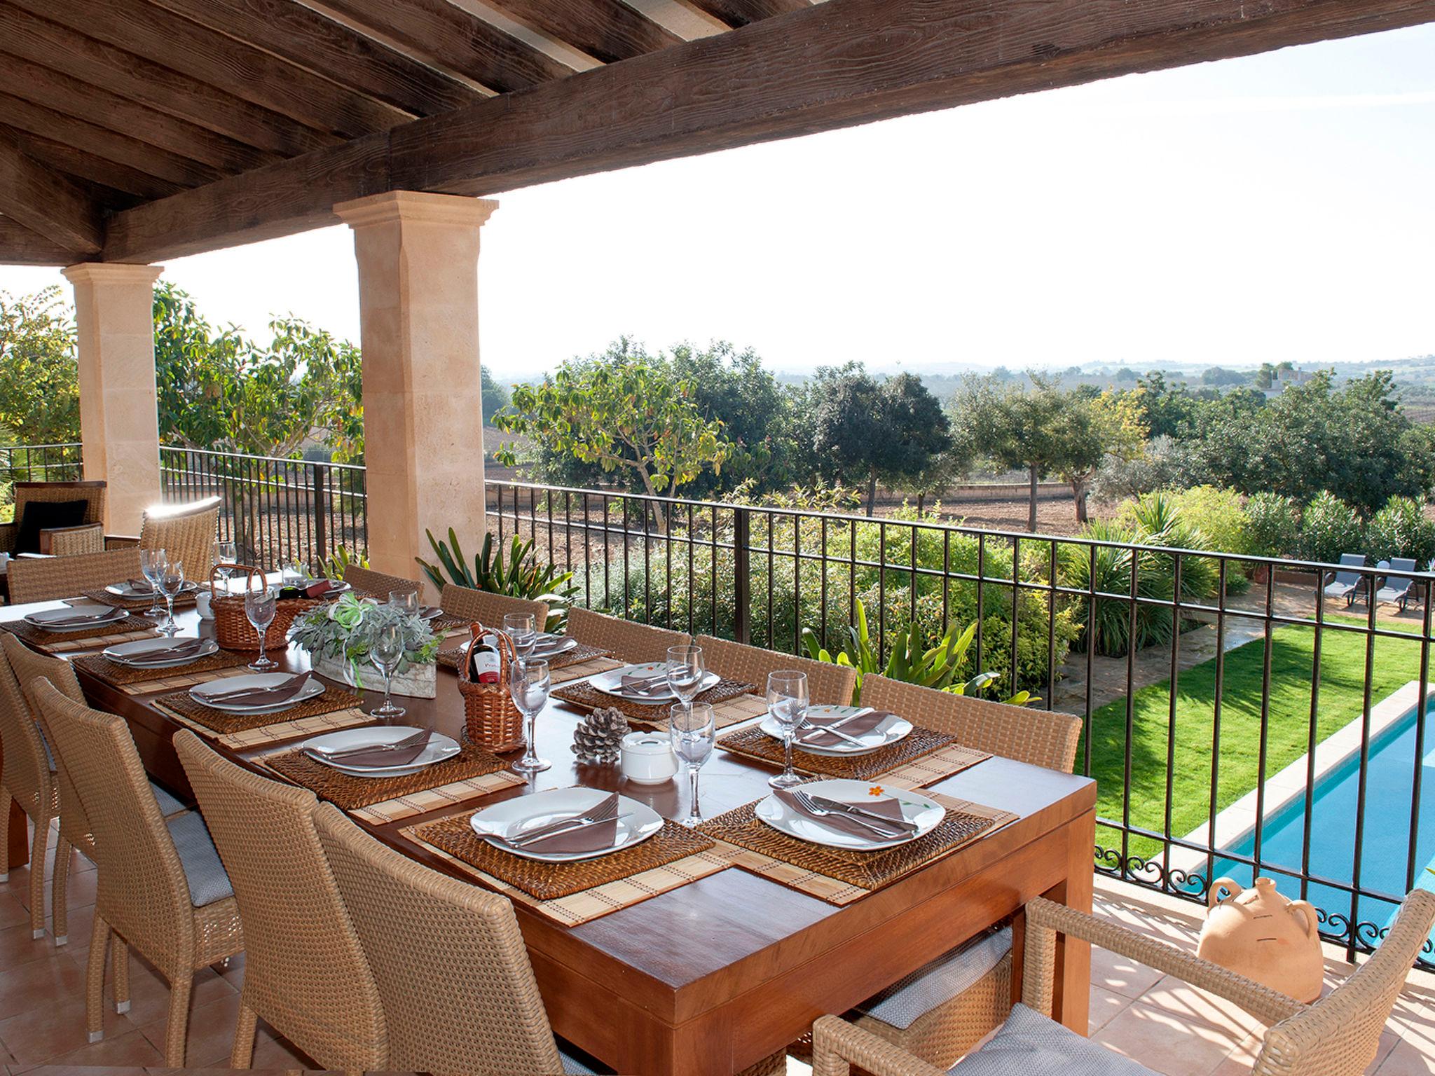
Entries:
{"label": "whole dark wooden terrace roof with its rafters and main beam", "polygon": [[492,194],[1429,20],[1435,0],[0,0],[0,263],[144,263],[382,191]]}

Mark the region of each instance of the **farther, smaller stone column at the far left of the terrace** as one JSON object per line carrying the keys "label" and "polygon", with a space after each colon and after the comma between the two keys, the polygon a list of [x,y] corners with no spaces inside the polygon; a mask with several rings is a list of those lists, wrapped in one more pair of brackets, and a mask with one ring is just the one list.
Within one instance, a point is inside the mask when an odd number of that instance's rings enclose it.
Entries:
{"label": "farther, smaller stone column at the far left of the terrace", "polygon": [[106,534],[139,534],[159,504],[154,287],[161,265],[70,265],[79,344],[85,478],[109,483]]}

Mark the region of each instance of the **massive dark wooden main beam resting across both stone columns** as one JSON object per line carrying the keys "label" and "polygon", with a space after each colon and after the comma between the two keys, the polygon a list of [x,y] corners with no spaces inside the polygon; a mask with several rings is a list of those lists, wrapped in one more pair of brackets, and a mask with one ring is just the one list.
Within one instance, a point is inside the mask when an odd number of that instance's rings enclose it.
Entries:
{"label": "massive dark wooden main beam resting across both stone columns", "polygon": [[136,207],[105,257],[301,231],[376,191],[492,194],[1425,22],[1435,0],[827,0]]}

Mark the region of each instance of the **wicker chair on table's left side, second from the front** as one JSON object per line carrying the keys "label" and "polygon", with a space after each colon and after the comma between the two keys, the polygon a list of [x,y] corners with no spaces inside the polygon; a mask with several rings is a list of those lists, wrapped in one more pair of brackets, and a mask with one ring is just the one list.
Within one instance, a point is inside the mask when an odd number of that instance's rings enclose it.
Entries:
{"label": "wicker chair on table's left side, second from the front", "polygon": [[230,1066],[250,1067],[264,1017],[321,1069],[392,1067],[379,993],[314,832],[319,799],[235,766],[188,729],[174,745],[244,917]]}

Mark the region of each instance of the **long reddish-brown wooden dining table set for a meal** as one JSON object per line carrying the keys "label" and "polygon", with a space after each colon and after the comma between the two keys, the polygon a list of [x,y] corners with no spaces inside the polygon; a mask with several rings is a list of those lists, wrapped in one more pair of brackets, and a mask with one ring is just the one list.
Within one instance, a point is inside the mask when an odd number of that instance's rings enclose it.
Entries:
{"label": "long reddish-brown wooden dining table set for a meal", "polygon": [[[59,605],[4,607],[0,620]],[[177,618],[184,634],[212,634],[212,624],[192,610],[177,613]],[[309,667],[297,648],[270,656],[290,670]],[[182,726],[152,704],[154,696],[128,694],[83,670],[80,683],[92,706],[129,723],[149,775],[192,803],[171,745]],[[366,707],[377,700],[366,694]],[[408,707],[402,723],[459,736],[464,704],[456,676],[448,669],[439,669],[436,699],[397,702]],[[571,743],[580,719],[551,700],[538,716],[537,742],[552,768],[478,805],[584,785],[618,789],[670,819],[686,815],[686,780],[644,786],[621,778],[616,766],[578,763]],[[254,752],[220,750],[254,765]],[[713,752],[702,770],[705,816],[761,799],[771,773],[756,762]],[[1020,968],[1020,910],[1032,897],[1091,910],[1093,780],[990,758],[924,791],[1020,818],[844,907],[739,867],[575,927],[515,904],[554,1030],[620,1073],[729,1076],[795,1042],[818,1016],[847,1011],[1013,915],[1015,967]],[[445,813],[453,809],[362,825],[413,859],[474,882],[472,875],[400,832]],[[1086,1033],[1089,978],[1088,945],[1059,940],[1053,1013],[1081,1034]],[[1020,974],[1013,981],[1017,993]]]}

